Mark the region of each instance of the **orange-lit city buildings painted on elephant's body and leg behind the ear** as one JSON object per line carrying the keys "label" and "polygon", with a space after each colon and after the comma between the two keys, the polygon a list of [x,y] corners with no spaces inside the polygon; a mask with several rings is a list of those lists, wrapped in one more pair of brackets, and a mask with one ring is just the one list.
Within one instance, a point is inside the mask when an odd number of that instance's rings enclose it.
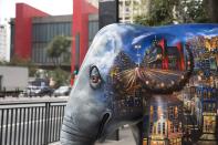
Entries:
{"label": "orange-lit city buildings painted on elephant's body and leg behind the ear", "polygon": [[186,45],[194,56],[193,75],[181,92],[147,100],[143,145],[218,144],[218,33],[195,35]]}

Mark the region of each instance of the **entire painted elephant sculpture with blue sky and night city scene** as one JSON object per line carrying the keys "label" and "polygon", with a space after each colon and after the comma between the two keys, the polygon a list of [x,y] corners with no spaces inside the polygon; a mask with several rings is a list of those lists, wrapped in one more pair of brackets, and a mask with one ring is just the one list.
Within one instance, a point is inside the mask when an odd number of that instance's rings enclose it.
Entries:
{"label": "entire painted elephant sculpture with blue sky and night city scene", "polygon": [[136,145],[216,145],[217,50],[217,24],[103,28],[72,89],[62,144],[92,145],[128,124]]}

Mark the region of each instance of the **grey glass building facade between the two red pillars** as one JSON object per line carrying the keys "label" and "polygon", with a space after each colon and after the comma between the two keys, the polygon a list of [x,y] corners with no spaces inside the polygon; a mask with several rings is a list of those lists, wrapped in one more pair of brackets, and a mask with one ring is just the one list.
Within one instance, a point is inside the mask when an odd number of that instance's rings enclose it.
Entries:
{"label": "grey glass building facade between the two red pillars", "polygon": [[[32,27],[32,61],[34,63],[52,64],[53,61],[64,61],[64,56],[59,60],[50,59],[46,55],[46,46],[56,35],[71,37],[72,22],[40,22]],[[71,51],[71,48],[69,48]],[[69,60],[70,64],[70,60]]]}

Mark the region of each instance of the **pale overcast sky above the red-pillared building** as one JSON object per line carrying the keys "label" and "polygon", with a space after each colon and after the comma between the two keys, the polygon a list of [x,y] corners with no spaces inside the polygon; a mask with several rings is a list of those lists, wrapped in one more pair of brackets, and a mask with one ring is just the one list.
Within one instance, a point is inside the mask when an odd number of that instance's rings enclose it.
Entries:
{"label": "pale overcast sky above the red-pillared building", "polygon": [[15,3],[24,2],[52,15],[72,14],[73,0],[0,0],[0,23],[15,17]]}

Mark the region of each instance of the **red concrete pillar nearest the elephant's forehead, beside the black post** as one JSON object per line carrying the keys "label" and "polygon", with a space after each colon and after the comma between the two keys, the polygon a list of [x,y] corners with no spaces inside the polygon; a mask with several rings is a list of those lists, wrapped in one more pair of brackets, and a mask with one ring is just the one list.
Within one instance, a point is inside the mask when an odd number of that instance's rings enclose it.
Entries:
{"label": "red concrete pillar nearest the elephant's forehead, beside the black post", "polygon": [[98,13],[98,10],[86,0],[73,0],[72,72],[80,68],[89,49],[89,14],[91,13]]}

